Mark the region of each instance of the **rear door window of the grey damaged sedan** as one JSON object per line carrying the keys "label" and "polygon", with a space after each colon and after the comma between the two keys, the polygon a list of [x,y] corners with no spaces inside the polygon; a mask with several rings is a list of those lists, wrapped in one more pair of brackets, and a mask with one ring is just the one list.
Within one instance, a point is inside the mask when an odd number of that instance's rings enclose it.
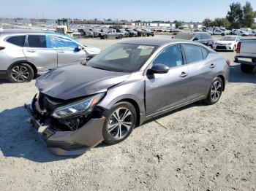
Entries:
{"label": "rear door window of the grey damaged sedan", "polygon": [[199,46],[184,44],[184,52],[186,55],[187,63],[203,61],[203,54]]}

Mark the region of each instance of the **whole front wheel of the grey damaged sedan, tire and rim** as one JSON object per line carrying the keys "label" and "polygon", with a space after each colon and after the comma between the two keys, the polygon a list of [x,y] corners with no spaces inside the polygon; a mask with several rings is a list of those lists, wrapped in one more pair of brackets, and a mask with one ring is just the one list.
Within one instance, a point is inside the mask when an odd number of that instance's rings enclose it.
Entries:
{"label": "whole front wheel of the grey damaged sedan, tire and rim", "polygon": [[117,144],[132,133],[137,121],[135,107],[129,102],[120,102],[105,114],[103,138],[106,144]]}

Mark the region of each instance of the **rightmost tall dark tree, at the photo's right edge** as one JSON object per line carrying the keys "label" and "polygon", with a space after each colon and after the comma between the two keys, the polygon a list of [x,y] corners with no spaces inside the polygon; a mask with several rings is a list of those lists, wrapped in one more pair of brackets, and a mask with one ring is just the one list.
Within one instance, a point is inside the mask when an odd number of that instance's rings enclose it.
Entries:
{"label": "rightmost tall dark tree, at the photo's right edge", "polygon": [[243,26],[252,28],[256,17],[256,12],[252,9],[252,4],[246,1],[243,7]]}

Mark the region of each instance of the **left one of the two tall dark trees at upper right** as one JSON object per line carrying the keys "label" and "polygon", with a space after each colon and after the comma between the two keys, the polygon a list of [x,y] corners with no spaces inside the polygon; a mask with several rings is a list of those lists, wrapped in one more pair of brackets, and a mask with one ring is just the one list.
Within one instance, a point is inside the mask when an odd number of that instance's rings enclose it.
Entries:
{"label": "left one of the two tall dark trees at upper right", "polygon": [[232,28],[241,28],[243,9],[240,3],[230,4],[230,11],[227,12],[227,20],[229,20]]}

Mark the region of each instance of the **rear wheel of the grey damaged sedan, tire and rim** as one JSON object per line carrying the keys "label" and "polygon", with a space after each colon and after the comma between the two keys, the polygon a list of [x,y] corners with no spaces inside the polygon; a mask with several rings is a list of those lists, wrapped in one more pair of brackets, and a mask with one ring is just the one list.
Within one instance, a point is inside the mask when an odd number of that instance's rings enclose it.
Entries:
{"label": "rear wheel of the grey damaged sedan, tire and rim", "polygon": [[216,104],[222,95],[222,90],[223,90],[222,79],[220,77],[215,77],[214,81],[211,83],[211,87],[208,90],[207,98],[203,101],[209,105]]}

